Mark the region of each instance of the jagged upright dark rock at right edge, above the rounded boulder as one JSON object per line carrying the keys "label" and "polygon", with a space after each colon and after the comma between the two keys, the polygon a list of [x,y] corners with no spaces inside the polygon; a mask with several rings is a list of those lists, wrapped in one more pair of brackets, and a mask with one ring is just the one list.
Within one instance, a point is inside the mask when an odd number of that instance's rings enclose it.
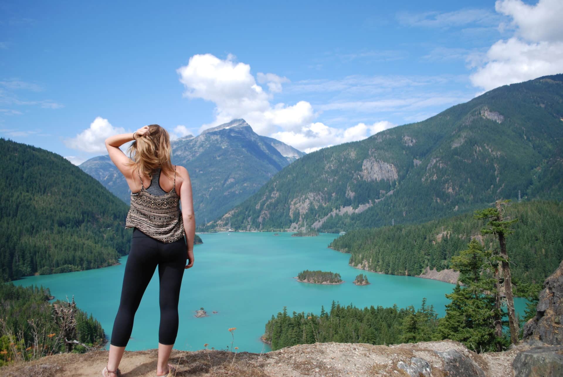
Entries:
{"label": "jagged upright dark rock at right edge, above the rounded boulder", "polygon": [[524,326],[524,339],[562,345],[561,322],[563,322],[563,261],[555,272],[543,282],[536,314]]}

